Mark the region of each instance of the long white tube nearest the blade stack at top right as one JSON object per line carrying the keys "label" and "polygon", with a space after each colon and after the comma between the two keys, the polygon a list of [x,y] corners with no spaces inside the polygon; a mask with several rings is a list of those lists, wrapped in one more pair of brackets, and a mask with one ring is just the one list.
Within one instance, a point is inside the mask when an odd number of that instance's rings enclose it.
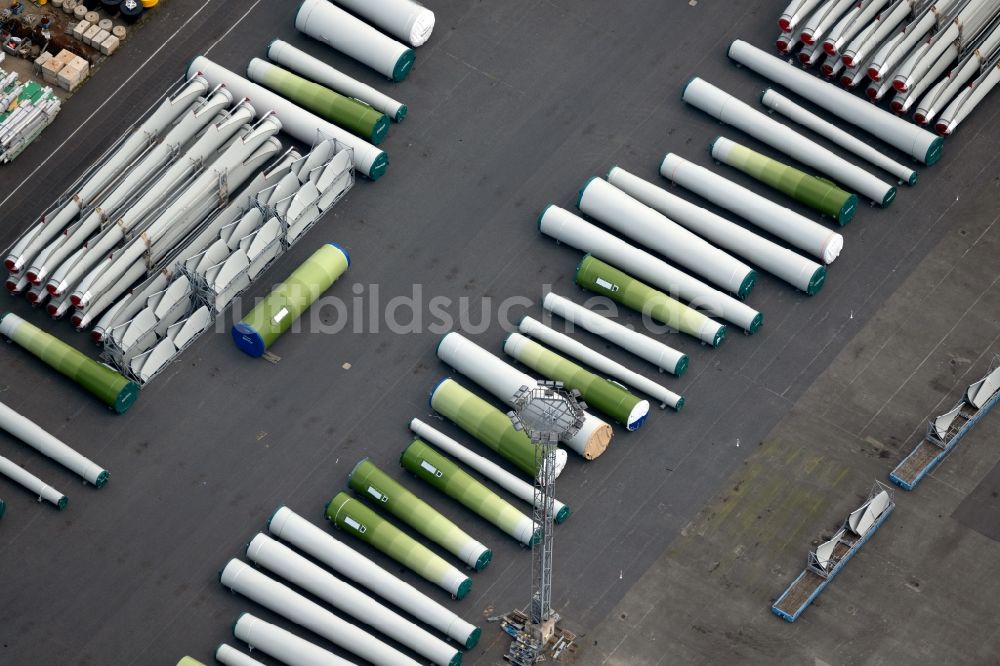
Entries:
{"label": "long white tube nearest the blade stack at top right", "polygon": [[729,57],[928,166],[941,159],[944,147],[941,137],[897,118],[846,90],[827,85],[808,72],[743,40],[737,39],[729,46]]}

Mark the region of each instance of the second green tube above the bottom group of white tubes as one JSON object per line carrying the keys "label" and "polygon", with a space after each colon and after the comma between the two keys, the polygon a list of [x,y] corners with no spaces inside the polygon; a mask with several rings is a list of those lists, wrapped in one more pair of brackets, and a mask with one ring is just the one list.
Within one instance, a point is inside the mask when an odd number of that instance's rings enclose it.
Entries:
{"label": "second green tube above the bottom group of white tubes", "polygon": [[493,551],[466,534],[427,502],[423,501],[365,458],[347,476],[351,490],[420,532],[476,571],[482,571]]}

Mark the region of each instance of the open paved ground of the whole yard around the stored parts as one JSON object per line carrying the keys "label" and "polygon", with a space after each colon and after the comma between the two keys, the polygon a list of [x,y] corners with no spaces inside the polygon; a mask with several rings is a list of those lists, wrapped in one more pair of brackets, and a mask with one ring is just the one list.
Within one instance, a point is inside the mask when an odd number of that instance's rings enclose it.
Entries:
{"label": "open paved ground of the whole yard around the stored parts", "polygon": [[[658,180],[667,151],[711,166],[708,142],[720,132],[754,145],[685,108],[680,90],[700,75],[753,100],[763,80],[733,66],[725,50],[737,37],[769,47],[779,3],[429,4],[434,37],[410,77],[393,85],[296,35],[295,3],[162,3],[55,125],[0,171],[6,247],[191,57],[207,50],[242,70],[274,37],[410,107],[383,145],[388,174],[359,181],[248,294],[266,293],[317,245],[336,241],[354,263],[331,293],[363,305],[347,330],[307,326],[275,345],[281,361],[272,365],[238,352],[223,327],[117,417],[20,350],[0,354],[0,399],[112,474],[101,490],[85,487],[0,437],[0,455],[70,496],[59,513],[3,485],[0,663],[209,661],[216,644],[232,640],[241,611],[274,619],[224,590],[217,571],[279,504],[323,524],[324,503],[363,456],[404,479],[396,460],[406,424],[429,417],[427,393],[448,374],[434,356],[438,334],[397,335],[384,323],[352,332],[360,320],[373,312],[378,320],[390,299],[419,285],[425,303],[451,299],[456,322],[468,299],[473,314],[456,327],[499,352],[504,299],[534,302],[515,307],[512,321],[538,316],[547,288],[582,300],[572,284],[579,254],[536,230],[546,204],[571,206],[585,179],[613,164]],[[731,334],[718,350],[669,336],[691,357],[681,379],[660,377],[686,397],[684,410],[657,411],[642,430],[618,432],[594,462],[571,461],[558,486],[574,514],[556,537],[554,602],[582,636],[575,661],[997,663],[995,415],[914,493],[897,492],[896,514],[797,623],[768,610],[812,541],[885,479],[926,417],[950,406],[1000,352],[997,119],[996,104],[983,106],[916,188],[902,188],[889,210],[863,207],[843,229],[845,251],[819,295],[763,275],[749,298],[765,313],[758,334]],[[8,303],[93,351],[65,322],[48,322],[20,299]],[[426,329],[432,318],[426,309],[422,316]],[[483,618],[525,603],[529,553],[406,483],[488,543],[492,565],[454,602],[359,549],[480,623],[483,640],[466,663],[499,663],[506,641]]]}

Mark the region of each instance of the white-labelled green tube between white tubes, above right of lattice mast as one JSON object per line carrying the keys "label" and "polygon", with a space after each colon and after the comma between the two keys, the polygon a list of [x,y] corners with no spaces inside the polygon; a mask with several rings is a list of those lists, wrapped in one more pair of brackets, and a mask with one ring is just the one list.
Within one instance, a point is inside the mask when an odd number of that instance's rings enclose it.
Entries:
{"label": "white-labelled green tube between white tubes, above right of lattice mast", "polygon": [[693,335],[713,347],[722,344],[726,337],[725,325],[592,255],[586,255],[576,267],[574,280],[588,291],[607,296],[615,303],[641,312],[681,333]]}

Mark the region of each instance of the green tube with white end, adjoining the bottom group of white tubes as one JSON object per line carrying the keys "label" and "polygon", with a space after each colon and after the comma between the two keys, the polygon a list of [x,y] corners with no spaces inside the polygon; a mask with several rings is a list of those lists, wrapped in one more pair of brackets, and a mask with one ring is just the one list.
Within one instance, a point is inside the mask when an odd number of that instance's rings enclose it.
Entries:
{"label": "green tube with white end, adjoining the bottom group of white tubes", "polygon": [[468,576],[347,493],[337,493],[329,501],[326,517],[338,528],[441,586],[456,599],[472,588]]}

